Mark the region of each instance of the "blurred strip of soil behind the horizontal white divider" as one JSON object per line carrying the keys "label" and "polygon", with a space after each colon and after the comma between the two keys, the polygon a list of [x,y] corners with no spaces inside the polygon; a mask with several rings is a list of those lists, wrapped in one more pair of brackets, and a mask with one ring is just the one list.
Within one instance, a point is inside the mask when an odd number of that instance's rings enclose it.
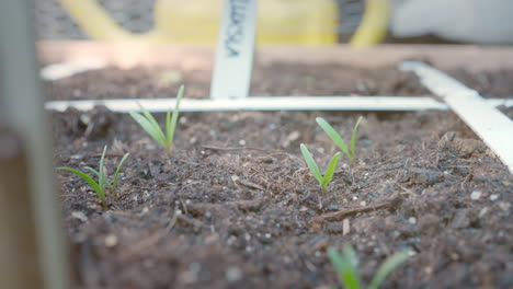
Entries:
{"label": "blurred strip of soil behind the horizontal white divider", "polygon": [[[411,73],[395,68],[362,70],[341,65],[256,65],[250,95],[428,95]],[[187,97],[209,95],[209,70],[107,68],[45,83],[49,100],[173,97],[185,84]]]}

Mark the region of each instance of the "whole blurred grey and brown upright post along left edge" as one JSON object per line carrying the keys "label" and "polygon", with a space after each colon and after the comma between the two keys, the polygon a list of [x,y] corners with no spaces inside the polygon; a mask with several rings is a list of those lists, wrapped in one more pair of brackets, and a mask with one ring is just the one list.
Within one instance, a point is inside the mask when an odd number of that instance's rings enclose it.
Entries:
{"label": "whole blurred grey and brown upright post along left edge", "polygon": [[29,7],[26,0],[3,1],[0,9],[0,123],[9,128],[0,142],[0,287],[68,289],[68,250]]}

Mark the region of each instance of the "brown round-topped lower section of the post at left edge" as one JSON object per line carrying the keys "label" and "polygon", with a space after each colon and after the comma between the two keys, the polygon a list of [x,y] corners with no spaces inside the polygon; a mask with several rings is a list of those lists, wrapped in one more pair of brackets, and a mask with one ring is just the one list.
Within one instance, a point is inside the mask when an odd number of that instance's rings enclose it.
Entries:
{"label": "brown round-topped lower section of the post at left edge", "polygon": [[23,143],[4,127],[0,127],[0,286],[42,288]]}

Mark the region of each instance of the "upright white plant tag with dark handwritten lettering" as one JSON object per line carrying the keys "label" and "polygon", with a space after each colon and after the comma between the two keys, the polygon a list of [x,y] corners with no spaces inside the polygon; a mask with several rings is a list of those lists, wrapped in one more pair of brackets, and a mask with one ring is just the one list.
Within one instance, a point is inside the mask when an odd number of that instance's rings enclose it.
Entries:
{"label": "upright white plant tag with dark handwritten lettering", "polygon": [[253,66],[256,10],[258,0],[225,0],[210,88],[212,99],[248,96]]}

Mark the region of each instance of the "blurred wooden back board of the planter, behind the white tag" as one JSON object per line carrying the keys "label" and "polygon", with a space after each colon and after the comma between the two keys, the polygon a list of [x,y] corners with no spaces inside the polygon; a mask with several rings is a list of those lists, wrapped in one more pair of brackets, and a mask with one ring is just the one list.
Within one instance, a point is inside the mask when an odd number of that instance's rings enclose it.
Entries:
{"label": "blurred wooden back board of the planter, behind the white tag", "polygon": [[[179,66],[212,71],[215,56],[212,45],[52,41],[39,42],[37,47],[41,59],[46,63],[94,59],[122,68]],[[255,56],[259,63],[341,63],[368,69],[396,65],[404,59],[429,59],[430,63],[444,70],[466,69],[475,72],[513,67],[511,46],[389,44],[355,50],[346,45],[266,45],[256,47]]]}

